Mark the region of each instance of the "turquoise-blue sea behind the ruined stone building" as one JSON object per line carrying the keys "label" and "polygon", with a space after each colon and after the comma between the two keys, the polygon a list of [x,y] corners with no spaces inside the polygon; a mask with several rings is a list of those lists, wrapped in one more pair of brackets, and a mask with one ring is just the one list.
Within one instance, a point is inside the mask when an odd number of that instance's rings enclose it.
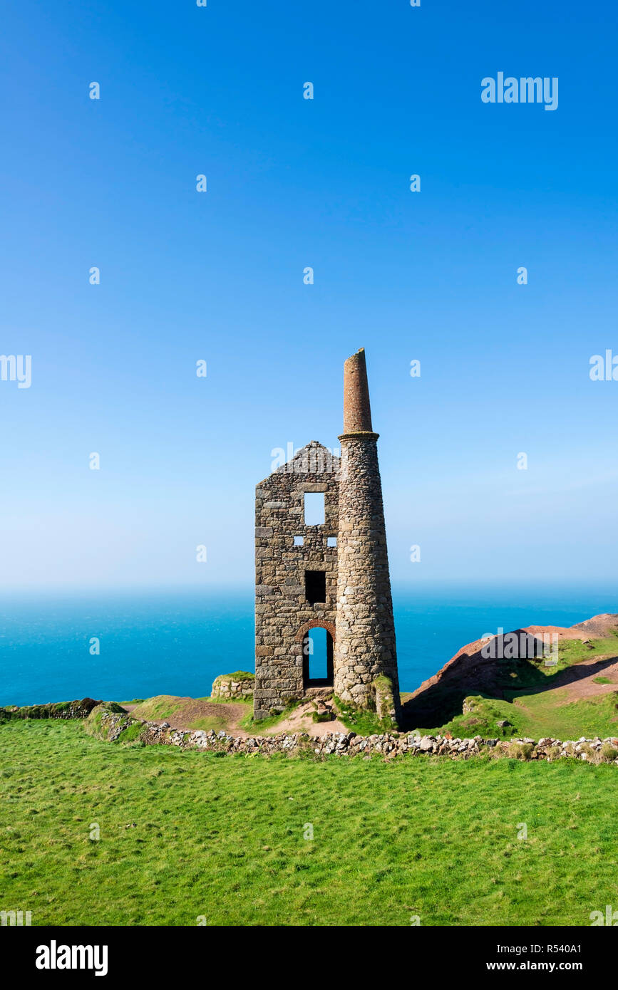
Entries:
{"label": "turquoise-blue sea behind the ruined stone building", "polygon": [[[254,669],[252,589],[20,594],[0,604],[0,705],[204,697]],[[618,612],[618,585],[393,587],[402,691],[484,634]],[[91,654],[91,640],[100,653]]]}

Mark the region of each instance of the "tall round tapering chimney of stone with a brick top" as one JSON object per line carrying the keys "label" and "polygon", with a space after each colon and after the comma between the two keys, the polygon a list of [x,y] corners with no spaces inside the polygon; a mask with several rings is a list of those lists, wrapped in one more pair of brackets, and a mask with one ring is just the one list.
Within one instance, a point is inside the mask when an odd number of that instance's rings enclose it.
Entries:
{"label": "tall round tapering chimney of stone with a brick top", "polygon": [[[376,705],[380,716],[386,705],[397,720],[399,679],[377,438],[361,348],[344,365],[334,688],[343,701]],[[384,676],[392,685],[390,702]]]}

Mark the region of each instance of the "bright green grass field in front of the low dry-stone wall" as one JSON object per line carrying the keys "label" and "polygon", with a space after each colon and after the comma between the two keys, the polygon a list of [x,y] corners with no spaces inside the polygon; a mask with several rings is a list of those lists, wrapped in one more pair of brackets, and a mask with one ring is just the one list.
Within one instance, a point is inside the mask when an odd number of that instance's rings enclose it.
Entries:
{"label": "bright green grass field in front of the low dry-stone wall", "polygon": [[33,925],[587,926],[618,904],[617,799],[610,765],[216,756],[16,720],[0,725],[0,909]]}

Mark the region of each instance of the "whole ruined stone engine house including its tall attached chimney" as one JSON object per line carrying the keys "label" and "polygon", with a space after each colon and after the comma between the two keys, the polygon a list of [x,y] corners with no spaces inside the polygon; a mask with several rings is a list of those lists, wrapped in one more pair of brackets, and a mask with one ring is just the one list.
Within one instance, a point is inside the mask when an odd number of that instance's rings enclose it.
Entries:
{"label": "whole ruined stone engine house including its tall attached chimney", "polygon": [[[256,488],[254,717],[318,689],[399,715],[382,490],[364,350],[344,365],[341,458],[312,441]],[[307,522],[323,500],[320,522]],[[326,630],[326,676],[309,676]]]}

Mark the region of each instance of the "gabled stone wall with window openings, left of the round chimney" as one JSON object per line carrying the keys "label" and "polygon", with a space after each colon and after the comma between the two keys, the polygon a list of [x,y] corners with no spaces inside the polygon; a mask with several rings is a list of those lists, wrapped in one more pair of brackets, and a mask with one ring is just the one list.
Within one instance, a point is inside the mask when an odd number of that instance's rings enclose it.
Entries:
{"label": "gabled stone wall with window openings, left of the round chimney", "polygon": [[[323,492],[323,526],[305,526],[304,495]],[[305,691],[303,638],[323,627],[335,639],[339,458],[313,441],[256,489],[256,683],[254,717],[282,710]],[[302,537],[303,545],[294,545]],[[305,571],[325,571],[326,600],[310,604]]]}

